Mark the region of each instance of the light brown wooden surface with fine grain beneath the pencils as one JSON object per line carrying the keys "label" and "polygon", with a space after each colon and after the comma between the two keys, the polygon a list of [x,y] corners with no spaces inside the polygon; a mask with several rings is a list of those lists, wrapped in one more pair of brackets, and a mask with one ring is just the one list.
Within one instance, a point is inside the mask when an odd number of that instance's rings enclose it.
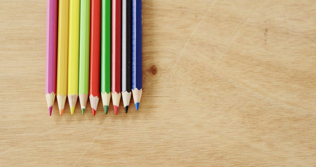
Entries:
{"label": "light brown wooden surface with fine grain beneath the pencils", "polygon": [[313,0],[143,0],[140,110],[55,100],[50,117],[46,1],[0,0],[0,166],[316,166],[315,16]]}

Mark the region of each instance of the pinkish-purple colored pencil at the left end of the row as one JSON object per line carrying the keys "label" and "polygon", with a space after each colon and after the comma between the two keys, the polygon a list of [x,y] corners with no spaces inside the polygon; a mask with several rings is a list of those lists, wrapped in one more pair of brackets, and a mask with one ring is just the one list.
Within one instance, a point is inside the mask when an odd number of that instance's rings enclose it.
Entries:
{"label": "pinkish-purple colored pencil at the left end of the row", "polygon": [[56,96],[58,0],[47,0],[45,96],[49,115]]}

